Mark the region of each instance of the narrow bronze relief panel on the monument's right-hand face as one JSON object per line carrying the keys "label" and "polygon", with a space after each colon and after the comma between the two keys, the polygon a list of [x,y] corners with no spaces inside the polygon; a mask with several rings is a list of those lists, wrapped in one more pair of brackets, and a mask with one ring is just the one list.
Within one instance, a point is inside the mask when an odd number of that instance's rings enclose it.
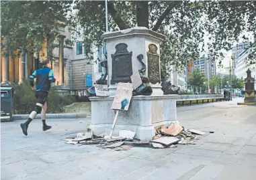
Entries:
{"label": "narrow bronze relief panel on the monument's right-hand face", "polygon": [[157,54],[157,46],[151,43],[148,46],[148,78],[152,84],[161,82],[160,78],[160,66],[159,66],[159,54]]}

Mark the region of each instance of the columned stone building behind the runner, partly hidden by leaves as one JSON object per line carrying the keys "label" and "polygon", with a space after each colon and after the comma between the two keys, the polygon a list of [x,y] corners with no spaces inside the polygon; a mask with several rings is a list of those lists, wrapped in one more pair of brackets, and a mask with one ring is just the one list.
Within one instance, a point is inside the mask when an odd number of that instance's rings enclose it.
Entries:
{"label": "columned stone building behind the runner, partly hidden by leaves", "polygon": [[[53,86],[60,92],[66,94],[86,95],[87,88],[93,86],[95,80],[101,76],[101,66],[99,62],[103,59],[104,48],[84,46],[83,39],[77,38],[73,46],[65,44],[65,39],[71,39],[68,27],[60,29],[60,37],[54,41],[52,52],[54,61],[52,70],[56,82]],[[85,52],[87,48],[92,48],[93,54],[91,62],[87,60]],[[21,83],[23,79],[28,79],[34,70],[40,68],[40,61],[47,57],[46,42],[39,53],[26,53],[19,57],[4,57],[1,55],[1,83],[14,82]]]}

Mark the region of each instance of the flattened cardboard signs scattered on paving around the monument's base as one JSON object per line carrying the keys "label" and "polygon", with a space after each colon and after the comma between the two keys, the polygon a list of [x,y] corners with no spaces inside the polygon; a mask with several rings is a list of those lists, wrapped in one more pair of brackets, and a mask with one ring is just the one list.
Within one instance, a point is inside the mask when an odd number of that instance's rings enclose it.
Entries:
{"label": "flattened cardboard signs scattered on paving around the monument's base", "polygon": [[77,133],[76,137],[64,139],[71,145],[97,145],[103,149],[124,151],[133,147],[148,147],[155,149],[174,148],[177,145],[194,145],[200,136],[206,134],[201,130],[186,129],[179,121],[172,122],[167,128],[156,129],[152,141],[140,141],[136,139],[136,132],[131,130],[120,130],[119,137],[105,136],[105,134],[93,134],[93,130],[87,128],[85,132]]}

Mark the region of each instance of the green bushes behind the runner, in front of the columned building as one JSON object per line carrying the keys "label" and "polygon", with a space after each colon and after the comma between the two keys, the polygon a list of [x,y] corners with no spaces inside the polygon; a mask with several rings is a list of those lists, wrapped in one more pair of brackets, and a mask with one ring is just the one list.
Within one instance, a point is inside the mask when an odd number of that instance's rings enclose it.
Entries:
{"label": "green bushes behind the runner, in front of the columned building", "polygon": [[[36,98],[34,91],[30,87],[28,80],[22,84],[12,84],[15,88],[14,94],[14,109],[15,114],[29,114],[35,106]],[[71,96],[60,96],[58,92],[51,88],[48,98],[47,106],[48,113],[59,113],[65,111],[65,106],[75,102],[75,98]]]}

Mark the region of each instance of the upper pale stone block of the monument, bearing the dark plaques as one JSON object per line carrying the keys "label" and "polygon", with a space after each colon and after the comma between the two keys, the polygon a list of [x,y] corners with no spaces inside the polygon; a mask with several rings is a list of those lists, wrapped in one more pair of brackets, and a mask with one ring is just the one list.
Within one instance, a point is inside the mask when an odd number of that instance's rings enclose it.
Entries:
{"label": "upper pale stone block of the monument, bearing the dark plaques", "polygon": [[[132,29],[104,33],[102,38],[106,42],[106,50],[108,52],[108,85],[111,96],[116,94],[116,83],[113,82],[114,74],[112,73],[113,61],[117,61],[118,59],[115,58],[122,56],[122,54],[125,54],[124,56],[126,56],[127,59],[131,58],[131,60],[127,60],[126,62],[126,60],[120,59],[119,61],[124,62],[124,66],[117,68],[117,70],[114,67],[116,72],[120,70],[120,72],[124,74],[134,74],[140,70],[142,64],[138,61],[137,56],[142,54],[142,61],[146,65],[145,75],[151,80],[153,95],[163,95],[160,82],[159,43],[163,41],[165,35],[147,29],[146,27],[134,27]],[[148,58],[150,56],[151,60]],[[127,79],[128,78],[124,78],[124,82],[127,82]]]}

